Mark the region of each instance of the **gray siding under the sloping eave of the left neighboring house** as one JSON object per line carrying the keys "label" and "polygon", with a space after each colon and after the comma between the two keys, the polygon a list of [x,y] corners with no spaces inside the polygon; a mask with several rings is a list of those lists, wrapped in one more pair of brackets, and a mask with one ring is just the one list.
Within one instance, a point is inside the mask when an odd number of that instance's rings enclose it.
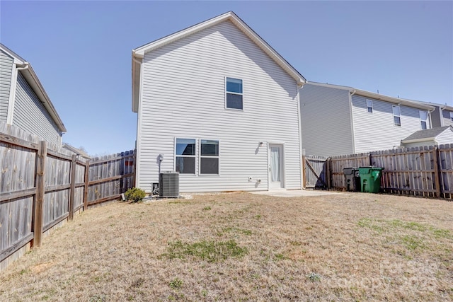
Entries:
{"label": "gray siding under the sloping eave of the left neighboring house", "polygon": [[25,81],[21,72],[18,72],[14,104],[14,125],[36,134],[52,144],[61,146],[61,132],[59,132],[57,124],[52,120],[49,112]]}

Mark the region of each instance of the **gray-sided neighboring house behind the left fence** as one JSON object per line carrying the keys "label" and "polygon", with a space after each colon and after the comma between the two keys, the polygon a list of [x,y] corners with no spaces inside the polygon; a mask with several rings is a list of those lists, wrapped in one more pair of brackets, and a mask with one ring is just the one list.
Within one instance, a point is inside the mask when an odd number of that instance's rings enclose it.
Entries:
{"label": "gray-sided neighboring house behind the left fence", "polygon": [[66,128],[30,63],[0,44],[0,122],[62,145]]}

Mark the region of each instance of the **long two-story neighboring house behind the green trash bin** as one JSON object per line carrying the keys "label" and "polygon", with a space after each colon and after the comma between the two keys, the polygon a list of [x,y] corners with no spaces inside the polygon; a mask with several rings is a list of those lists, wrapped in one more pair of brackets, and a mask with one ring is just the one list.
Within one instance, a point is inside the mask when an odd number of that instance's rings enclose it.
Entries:
{"label": "long two-story neighboring house behind the green trash bin", "polygon": [[302,149],[336,156],[394,149],[430,127],[434,107],[360,89],[308,82],[300,90]]}

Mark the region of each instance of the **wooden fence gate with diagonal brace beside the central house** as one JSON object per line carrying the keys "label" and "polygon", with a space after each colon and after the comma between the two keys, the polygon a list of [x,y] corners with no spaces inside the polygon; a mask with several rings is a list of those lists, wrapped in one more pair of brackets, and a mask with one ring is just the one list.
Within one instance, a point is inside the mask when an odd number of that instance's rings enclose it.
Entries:
{"label": "wooden fence gate with diagonal brace beside the central house", "polygon": [[304,188],[327,188],[327,158],[323,156],[304,156]]}

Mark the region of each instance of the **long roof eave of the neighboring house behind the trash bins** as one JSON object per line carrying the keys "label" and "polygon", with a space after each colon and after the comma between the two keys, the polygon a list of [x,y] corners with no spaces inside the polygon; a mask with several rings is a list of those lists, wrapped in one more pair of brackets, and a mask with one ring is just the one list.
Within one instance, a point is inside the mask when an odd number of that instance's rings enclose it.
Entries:
{"label": "long roof eave of the neighboring house behind the trash bins", "polygon": [[333,85],[333,84],[328,84],[328,83],[317,83],[317,82],[306,82],[306,83],[316,85],[316,86],[342,89],[345,91],[349,91],[350,93],[354,93],[355,95],[361,95],[365,98],[373,98],[374,100],[384,100],[386,102],[394,103],[396,105],[406,105],[408,107],[418,108],[418,109],[423,109],[423,110],[434,110],[435,109],[432,105],[427,105],[425,103],[421,103],[421,102],[418,102],[415,100],[407,100],[404,98],[394,98],[389,95],[372,93],[370,91],[364,91],[362,89],[353,88],[350,86],[340,86],[340,85]]}

